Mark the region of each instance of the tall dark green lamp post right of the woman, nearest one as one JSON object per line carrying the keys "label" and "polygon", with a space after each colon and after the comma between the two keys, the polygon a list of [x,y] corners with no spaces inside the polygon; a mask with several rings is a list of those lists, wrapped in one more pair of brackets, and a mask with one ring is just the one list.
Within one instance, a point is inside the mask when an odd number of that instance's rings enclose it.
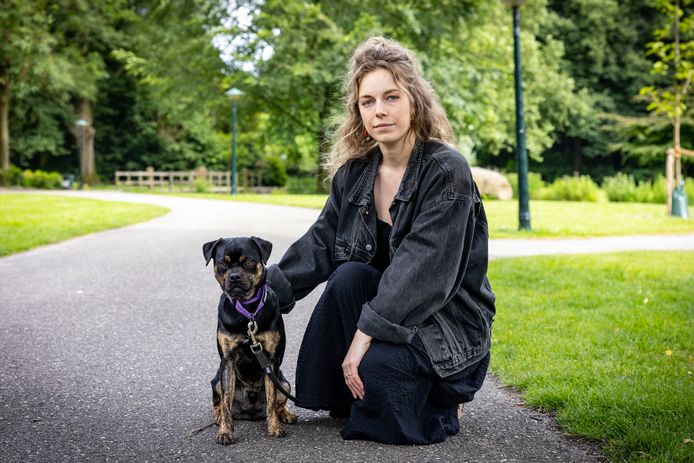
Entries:
{"label": "tall dark green lamp post right of the woman, nearest one", "polygon": [[525,146],[525,119],[523,116],[523,71],[520,57],[520,7],[525,0],[503,0],[513,11],[513,60],[516,82],[516,164],[518,166],[518,229],[530,230],[528,192],[528,152]]}

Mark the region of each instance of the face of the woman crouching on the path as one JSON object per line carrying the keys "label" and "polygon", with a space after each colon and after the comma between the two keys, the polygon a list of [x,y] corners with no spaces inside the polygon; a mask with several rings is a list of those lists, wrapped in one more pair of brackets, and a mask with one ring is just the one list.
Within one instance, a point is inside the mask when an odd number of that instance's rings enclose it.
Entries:
{"label": "face of the woman crouching on the path", "polygon": [[405,140],[412,105],[390,71],[376,69],[364,75],[357,102],[366,131],[379,145],[397,146]]}

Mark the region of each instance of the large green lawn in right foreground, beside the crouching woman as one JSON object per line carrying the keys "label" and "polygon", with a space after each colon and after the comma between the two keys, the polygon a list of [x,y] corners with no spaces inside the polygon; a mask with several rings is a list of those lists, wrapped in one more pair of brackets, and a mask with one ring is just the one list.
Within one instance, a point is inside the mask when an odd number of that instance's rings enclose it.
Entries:
{"label": "large green lawn in right foreground, beside the crouching woman", "polygon": [[694,461],[694,253],[493,261],[492,370],[612,461]]}

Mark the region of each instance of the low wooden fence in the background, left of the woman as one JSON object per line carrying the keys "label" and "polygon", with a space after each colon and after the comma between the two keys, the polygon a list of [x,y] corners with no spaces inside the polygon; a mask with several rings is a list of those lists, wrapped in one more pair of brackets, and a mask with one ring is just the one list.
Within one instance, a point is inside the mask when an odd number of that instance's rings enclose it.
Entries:
{"label": "low wooden fence in the background, left of the woman", "polygon": [[[239,190],[253,193],[270,193],[275,188],[262,187],[260,177],[249,174],[247,169],[241,170]],[[208,171],[199,167],[191,171],[155,171],[153,167],[140,171],[116,171],[115,183],[117,188],[148,188],[167,189],[168,191],[212,191],[228,193],[231,191],[231,173]]]}

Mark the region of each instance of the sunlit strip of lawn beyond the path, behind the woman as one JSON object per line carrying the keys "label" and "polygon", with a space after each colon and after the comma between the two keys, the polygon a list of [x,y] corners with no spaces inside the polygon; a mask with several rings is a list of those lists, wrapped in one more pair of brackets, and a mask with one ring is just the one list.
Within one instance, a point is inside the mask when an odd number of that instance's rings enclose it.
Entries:
{"label": "sunlit strip of lawn beyond the path, behind the woman", "polygon": [[[130,190],[134,191],[134,190]],[[137,190],[150,192],[149,190]],[[168,193],[166,193],[168,194]],[[321,209],[325,195],[173,193],[188,198],[218,199]],[[519,231],[518,201],[485,200],[491,238],[565,238],[694,233],[694,219],[665,215],[663,204],[531,201],[533,230]]]}

